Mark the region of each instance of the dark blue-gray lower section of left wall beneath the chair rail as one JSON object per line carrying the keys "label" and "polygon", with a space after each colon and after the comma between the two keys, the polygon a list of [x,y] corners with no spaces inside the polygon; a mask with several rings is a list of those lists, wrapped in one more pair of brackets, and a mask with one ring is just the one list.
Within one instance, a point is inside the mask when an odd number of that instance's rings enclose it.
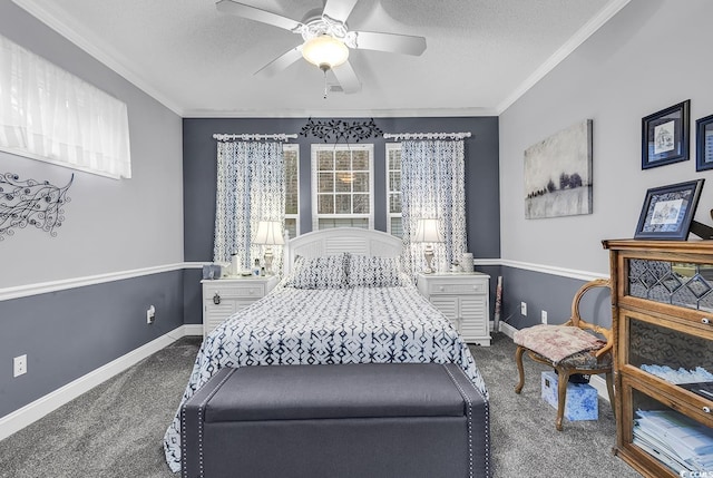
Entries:
{"label": "dark blue-gray lower section of left wall beneath the chair rail", "polygon": [[[0,417],[183,325],[182,287],[174,271],[0,301]],[[12,378],[20,354],[28,373]]]}

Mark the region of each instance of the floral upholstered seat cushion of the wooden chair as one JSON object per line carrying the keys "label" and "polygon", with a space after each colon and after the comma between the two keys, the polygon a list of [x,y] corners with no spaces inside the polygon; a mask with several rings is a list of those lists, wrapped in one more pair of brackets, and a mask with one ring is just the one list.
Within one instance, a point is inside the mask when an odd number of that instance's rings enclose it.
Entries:
{"label": "floral upholstered seat cushion of the wooden chair", "polygon": [[594,334],[568,325],[529,326],[515,332],[512,340],[551,361],[554,365],[576,353],[599,350],[606,345],[605,341]]}

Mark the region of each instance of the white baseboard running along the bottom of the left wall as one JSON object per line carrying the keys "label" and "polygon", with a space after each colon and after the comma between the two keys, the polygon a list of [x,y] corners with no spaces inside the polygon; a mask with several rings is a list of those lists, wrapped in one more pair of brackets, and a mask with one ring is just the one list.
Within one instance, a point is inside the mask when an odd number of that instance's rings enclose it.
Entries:
{"label": "white baseboard running along the bottom of the left wall", "polygon": [[80,394],[91,390],[96,386],[109,380],[111,377],[135,365],[153,353],[158,352],[176,340],[186,335],[203,335],[202,324],[188,324],[154,339],[145,345],[102,365],[91,372],[74,380],[66,386],[46,394],[31,403],[0,418],[0,440],[36,422],[51,411],[76,399]]}

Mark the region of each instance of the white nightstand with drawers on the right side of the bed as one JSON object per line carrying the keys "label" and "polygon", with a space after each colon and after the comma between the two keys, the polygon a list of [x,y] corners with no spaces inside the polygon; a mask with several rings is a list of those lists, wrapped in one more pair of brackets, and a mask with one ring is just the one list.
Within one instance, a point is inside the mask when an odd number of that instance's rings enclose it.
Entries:
{"label": "white nightstand with drawers on the right side of the bed", "polygon": [[419,292],[452,322],[468,343],[490,345],[490,276],[480,272],[416,275]]}

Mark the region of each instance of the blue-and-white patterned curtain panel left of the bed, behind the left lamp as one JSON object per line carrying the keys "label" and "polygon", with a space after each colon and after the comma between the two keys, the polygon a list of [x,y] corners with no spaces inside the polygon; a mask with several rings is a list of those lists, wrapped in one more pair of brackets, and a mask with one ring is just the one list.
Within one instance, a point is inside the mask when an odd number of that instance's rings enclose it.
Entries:
{"label": "blue-and-white patterned curtain panel left of the bed, behind the left lamp", "polygon": [[[235,252],[242,269],[263,258],[253,244],[260,221],[280,221],[284,231],[285,178],[282,143],[218,142],[213,261],[229,262]],[[282,247],[273,247],[273,271],[282,270]]]}

